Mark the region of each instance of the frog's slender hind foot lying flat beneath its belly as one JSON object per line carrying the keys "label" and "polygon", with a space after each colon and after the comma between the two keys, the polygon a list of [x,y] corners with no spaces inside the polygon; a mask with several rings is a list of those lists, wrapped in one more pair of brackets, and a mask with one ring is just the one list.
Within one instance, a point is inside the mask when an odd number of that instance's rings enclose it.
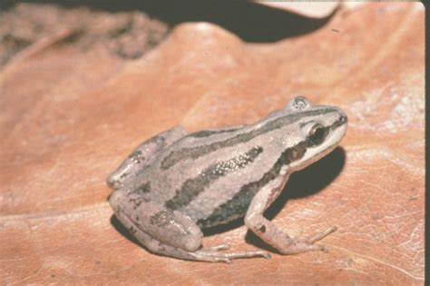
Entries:
{"label": "frog's slender hind foot lying flat beneath its belly", "polygon": [[228,250],[228,244],[221,244],[218,246],[204,248],[199,251],[190,252],[196,261],[211,261],[211,262],[227,262],[231,263],[233,259],[264,257],[270,258],[267,251],[235,251],[235,252],[220,252],[221,250]]}

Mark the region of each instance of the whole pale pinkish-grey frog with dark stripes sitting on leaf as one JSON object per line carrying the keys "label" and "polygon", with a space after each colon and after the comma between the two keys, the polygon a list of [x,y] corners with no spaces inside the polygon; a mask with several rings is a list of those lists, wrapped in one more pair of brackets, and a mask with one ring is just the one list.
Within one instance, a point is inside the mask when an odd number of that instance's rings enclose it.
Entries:
{"label": "whole pale pinkish-grey frog with dark stripes sitting on leaf", "polygon": [[289,175],[333,151],[347,131],[336,106],[294,97],[255,123],[194,133],[181,125],[146,140],[107,178],[115,217],[150,252],[186,261],[231,262],[263,250],[203,247],[203,231],[243,220],[280,254],[327,251],[337,230],[290,236],[264,217]]}

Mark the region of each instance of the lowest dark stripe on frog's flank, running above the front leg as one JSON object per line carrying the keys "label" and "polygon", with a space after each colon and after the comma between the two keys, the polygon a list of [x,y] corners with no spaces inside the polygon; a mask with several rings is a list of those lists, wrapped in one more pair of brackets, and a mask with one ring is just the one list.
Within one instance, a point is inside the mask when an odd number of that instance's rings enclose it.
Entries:
{"label": "lowest dark stripe on frog's flank, running above the front leg", "polygon": [[286,149],[280,154],[278,160],[273,167],[259,179],[259,181],[249,182],[242,186],[240,191],[236,193],[228,202],[217,207],[209,217],[200,219],[197,222],[202,228],[208,228],[220,223],[231,222],[239,217],[243,217],[248,210],[249,203],[254,198],[255,194],[261,190],[270,181],[279,176],[282,166],[293,163],[302,158],[308,147],[306,141],[298,143],[294,147]]}

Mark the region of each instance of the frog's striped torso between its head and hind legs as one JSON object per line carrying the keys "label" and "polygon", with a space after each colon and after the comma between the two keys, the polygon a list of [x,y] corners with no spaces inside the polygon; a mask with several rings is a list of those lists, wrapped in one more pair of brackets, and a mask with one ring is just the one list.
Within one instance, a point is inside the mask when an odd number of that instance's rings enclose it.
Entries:
{"label": "frog's striped torso between its head and hind legs", "polygon": [[201,131],[171,144],[147,170],[151,200],[203,228],[244,216],[283,148],[274,134],[272,142],[250,136],[255,129]]}

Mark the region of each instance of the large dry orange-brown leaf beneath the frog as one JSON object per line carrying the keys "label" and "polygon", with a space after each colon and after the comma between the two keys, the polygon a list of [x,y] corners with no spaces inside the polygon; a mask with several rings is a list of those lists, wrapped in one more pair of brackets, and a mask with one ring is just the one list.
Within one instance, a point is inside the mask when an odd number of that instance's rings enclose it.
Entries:
{"label": "large dry orange-brown leaf beneath the frog", "polygon": [[[0,280],[422,284],[424,27],[423,5],[379,3],[276,44],[197,23],[128,62],[102,45],[83,52],[73,31],[28,47],[0,74]],[[111,221],[104,178],[136,144],[176,124],[252,123],[297,94],[340,106],[349,128],[341,148],[292,176],[269,216],[293,234],[337,225],[329,253],[179,261]],[[264,247],[245,233],[204,243]]]}

